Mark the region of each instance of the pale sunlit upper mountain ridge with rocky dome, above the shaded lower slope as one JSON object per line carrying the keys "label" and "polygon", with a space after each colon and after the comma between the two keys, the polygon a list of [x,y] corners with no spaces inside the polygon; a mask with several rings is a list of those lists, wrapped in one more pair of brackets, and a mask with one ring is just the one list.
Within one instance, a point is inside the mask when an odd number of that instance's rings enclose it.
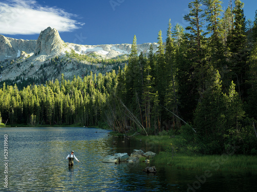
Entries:
{"label": "pale sunlit upper mountain ridge with rocky dome, above the shaded lower slope", "polygon": [[[138,52],[148,52],[151,44],[154,51],[156,51],[158,44],[154,42],[137,45]],[[72,49],[78,54],[95,52],[103,58],[113,58],[122,54],[130,54],[131,46],[132,44],[79,45],[64,42],[56,29],[48,27],[41,31],[37,40],[15,39],[0,35],[0,60],[19,57],[18,53],[22,51],[29,55],[33,53],[35,56],[38,53],[44,55],[64,55],[66,51],[71,52]],[[108,54],[109,52],[111,53]]]}

